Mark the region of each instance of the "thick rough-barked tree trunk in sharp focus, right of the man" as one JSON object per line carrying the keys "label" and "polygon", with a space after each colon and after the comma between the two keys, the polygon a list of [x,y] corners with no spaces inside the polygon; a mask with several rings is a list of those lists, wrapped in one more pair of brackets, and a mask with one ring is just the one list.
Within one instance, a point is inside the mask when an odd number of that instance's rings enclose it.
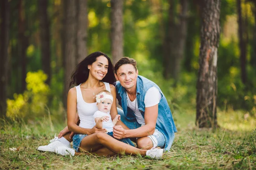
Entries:
{"label": "thick rough-barked tree trunk in sharp focus, right of the man", "polygon": [[196,125],[198,127],[217,127],[217,59],[221,0],[202,0],[201,10]]}

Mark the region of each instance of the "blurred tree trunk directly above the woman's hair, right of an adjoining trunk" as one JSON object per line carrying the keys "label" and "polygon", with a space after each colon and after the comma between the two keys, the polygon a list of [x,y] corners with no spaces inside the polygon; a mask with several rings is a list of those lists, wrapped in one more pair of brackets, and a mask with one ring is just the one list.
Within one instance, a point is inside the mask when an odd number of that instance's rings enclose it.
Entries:
{"label": "blurred tree trunk directly above the woman's hair, right of an adjoining trunk", "polygon": [[81,62],[87,56],[87,0],[77,0],[77,61]]}

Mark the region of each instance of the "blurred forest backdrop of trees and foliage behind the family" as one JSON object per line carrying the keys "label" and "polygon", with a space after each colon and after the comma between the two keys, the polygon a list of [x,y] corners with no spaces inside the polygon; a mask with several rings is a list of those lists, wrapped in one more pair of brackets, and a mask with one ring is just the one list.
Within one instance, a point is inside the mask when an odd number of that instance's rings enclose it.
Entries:
{"label": "blurred forest backdrop of trees and foliage behind the family", "polygon": [[[6,110],[9,99],[9,105],[26,108],[20,108],[24,119],[33,113],[65,118],[71,72],[94,51],[108,54],[113,62],[135,58],[139,74],[160,86],[173,114],[196,110],[197,88],[203,90],[196,86],[201,26],[207,20],[202,0],[1,0],[0,8],[1,115],[12,113]],[[219,40],[213,40],[218,84],[204,88],[217,86],[218,109],[255,116],[256,1],[221,0],[220,26]],[[46,86],[39,88],[40,83]],[[34,91],[28,85],[35,85]],[[40,96],[42,112],[31,108]]]}

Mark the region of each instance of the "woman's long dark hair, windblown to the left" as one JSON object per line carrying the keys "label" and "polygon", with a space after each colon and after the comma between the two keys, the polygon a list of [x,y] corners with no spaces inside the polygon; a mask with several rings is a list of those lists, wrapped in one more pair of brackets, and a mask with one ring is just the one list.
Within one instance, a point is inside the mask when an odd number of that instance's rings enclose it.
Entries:
{"label": "woman's long dark hair, windblown to the left", "polygon": [[80,85],[81,83],[85,82],[89,77],[89,69],[88,65],[92,65],[93,62],[96,61],[96,58],[99,56],[104,56],[108,59],[108,73],[106,76],[101,80],[102,82],[108,82],[112,85],[116,84],[116,77],[114,74],[114,67],[113,64],[108,57],[107,54],[104,54],[100,51],[94,52],[92,54],[89,54],[85,59],[83,59],[77,66],[76,69],[71,74],[71,85]]}

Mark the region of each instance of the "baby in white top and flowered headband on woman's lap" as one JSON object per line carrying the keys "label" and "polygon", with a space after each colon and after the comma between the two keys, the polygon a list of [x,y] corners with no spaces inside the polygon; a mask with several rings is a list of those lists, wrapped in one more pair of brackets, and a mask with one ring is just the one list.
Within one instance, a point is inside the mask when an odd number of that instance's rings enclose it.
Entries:
{"label": "baby in white top and flowered headband on woman's lap", "polygon": [[[107,130],[107,134],[113,137],[113,126],[120,120],[120,115],[118,114],[111,121],[110,109],[113,103],[113,96],[109,91],[100,91],[99,94],[96,95],[96,102],[99,109],[99,111],[96,111],[93,115],[96,127],[98,129],[105,128]],[[119,139],[119,141],[134,146],[128,138]]]}

